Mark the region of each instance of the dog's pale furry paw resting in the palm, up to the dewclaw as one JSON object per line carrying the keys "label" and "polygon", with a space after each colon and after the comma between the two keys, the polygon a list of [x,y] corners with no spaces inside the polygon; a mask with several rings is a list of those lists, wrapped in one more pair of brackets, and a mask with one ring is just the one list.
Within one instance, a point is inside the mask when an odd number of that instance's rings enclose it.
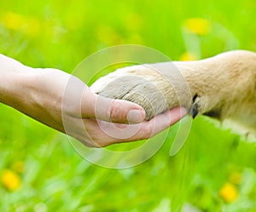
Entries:
{"label": "dog's pale furry paw resting in the palm, up to the dewclaw", "polygon": [[[173,77],[175,79],[175,77]],[[129,100],[143,106],[146,120],[168,109],[191,106],[191,97],[184,96],[182,83],[173,85],[169,78],[151,66],[139,65],[121,68],[99,78],[90,89],[112,99]],[[194,116],[196,110],[194,109]]]}

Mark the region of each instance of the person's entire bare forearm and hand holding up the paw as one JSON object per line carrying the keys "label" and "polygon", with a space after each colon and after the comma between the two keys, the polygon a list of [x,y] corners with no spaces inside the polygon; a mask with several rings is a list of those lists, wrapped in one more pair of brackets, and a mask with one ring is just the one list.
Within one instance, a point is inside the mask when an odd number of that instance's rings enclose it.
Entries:
{"label": "person's entire bare forearm and hand holding up the paw", "polygon": [[[183,107],[177,107],[145,121],[142,106],[96,95],[79,78],[66,72],[24,66],[3,54],[0,75],[0,102],[86,146],[148,139],[187,113]],[[127,130],[120,130],[119,136],[114,137],[102,126],[110,130],[127,128],[135,133],[127,137]]]}

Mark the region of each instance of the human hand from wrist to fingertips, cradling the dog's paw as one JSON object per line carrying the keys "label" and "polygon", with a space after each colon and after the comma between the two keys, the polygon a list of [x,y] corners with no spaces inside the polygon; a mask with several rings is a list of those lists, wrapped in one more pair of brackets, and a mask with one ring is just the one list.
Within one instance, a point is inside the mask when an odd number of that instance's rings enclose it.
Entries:
{"label": "human hand from wrist to fingertips, cradling the dog's paw", "polygon": [[43,122],[73,136],[86,146],[102,147],[148,139],[176,123],[186,113],[184,109],[177,108],[144,121],[145,112],[135,103],[95,95],[79,78],[65,72],[54,69],[40,72],[37,92],[42,97],[40,101],[45,102],[46,110],[39,114],[51,112],[47,116],[51,118]]}

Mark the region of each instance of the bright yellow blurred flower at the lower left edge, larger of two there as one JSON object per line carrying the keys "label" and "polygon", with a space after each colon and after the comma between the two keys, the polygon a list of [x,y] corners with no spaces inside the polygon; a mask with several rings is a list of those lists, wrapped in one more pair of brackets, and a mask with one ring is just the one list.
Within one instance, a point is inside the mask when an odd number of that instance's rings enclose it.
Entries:
{"label": "bright yellow blurred flower at the lower left edge, larger of two there", "polygon": [[2,173],[2,184],[9,191],[15,191],[20,187],[20,176],[17,175],[14,171],[5,169]]}

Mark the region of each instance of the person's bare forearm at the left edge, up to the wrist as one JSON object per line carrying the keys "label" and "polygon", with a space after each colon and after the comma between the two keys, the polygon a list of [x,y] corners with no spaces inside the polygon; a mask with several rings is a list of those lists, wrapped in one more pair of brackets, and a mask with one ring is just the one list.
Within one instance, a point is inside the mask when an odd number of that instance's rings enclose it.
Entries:
{"label": "person's bare forearm at the left edge, up to the wrist", "polygon": [[[50,105],[55,103],[54,100],[50,102],[49,96],[44,98],[49,95],[46,92],[49,84],[44,85],[38,80],[44,73],[49,74],[44,69],[24,66],[0,54],[0,102],[62,131],[61,110],[56,112],[54,106]],[[61,105],[61,102],[58,103]]]}

